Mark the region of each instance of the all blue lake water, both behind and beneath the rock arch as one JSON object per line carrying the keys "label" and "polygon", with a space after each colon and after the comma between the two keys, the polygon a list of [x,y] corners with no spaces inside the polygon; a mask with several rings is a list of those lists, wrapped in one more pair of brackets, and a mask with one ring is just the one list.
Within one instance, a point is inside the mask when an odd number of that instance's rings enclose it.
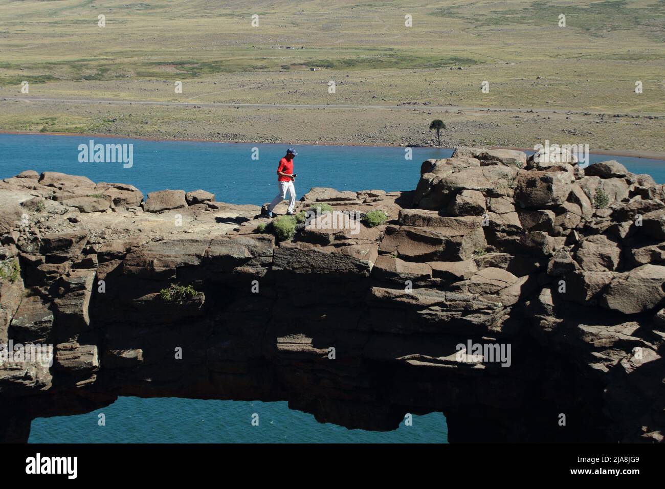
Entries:
{"label": "all blue lake water, both behind and beneath the rock arch", "polygon": [[[0,178],[23,170],[84,175],[95,182],[133,184],[142,192],[165,188],[213,192],[218,201],[263,204],[276,193],[275,170],[285,144],[221,144],[97,138],[95,142],[134,144],[132,168],[122,163],[80,163],[80,136],[0,134]],[[252,159],[258,148],[259,159]],[[447,158],[452,150],[358,146],[295,146],[298,197],[312,187],[338,190],[416,188],[420,164]],[[665,162],[591,155],[591,162],[616,159],[635,173],[665,182]],[[98,414],[106,426],[98,426]],[[251,414],[259,426],[251,426]],[[413,416],[392,432],[347,430],[321,424],[311,414],[289,410],[287,403],[139,399],[124,397],[109,407],[77,416],[33,421],[30,442],[447,442],[441,413]]]}

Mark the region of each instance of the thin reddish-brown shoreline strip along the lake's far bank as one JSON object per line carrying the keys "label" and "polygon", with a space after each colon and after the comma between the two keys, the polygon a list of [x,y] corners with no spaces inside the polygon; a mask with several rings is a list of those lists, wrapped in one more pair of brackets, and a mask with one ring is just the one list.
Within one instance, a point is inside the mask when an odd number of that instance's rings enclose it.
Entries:
{"label": "thin reddish-brown shoreline strip along the lake's far bank", "polygon": [[[125,136],[120,134],[95,134],[95,133],[81,133],[81,132],[29,132],[29,131],[9,131],[0,129],[0,134],[15,134],[15,135],[46,135],[46,136],[76,136],[76,137],[91,137],[91,138],[122,138],[122,139],[140,139],[144,141],[177,141],[177,142],[217,142],[223,144],[284,144],[291,145],[305,145],[305,146],[362,146],[364,148],[437,148],[437,146],[408,146],[408,145],[394,145],[394,144],[366,144],[362,142],[326,142],[319,143],[318,141],[297,141],[297,142],[260,142],[260,141],[237,141],[237,140],[216,140],[216,139],[178,139],[178,138],[150,138],[147,136]],[[443,150],[450,150],[454,148],[440,148]],[[488,146],[487,149],[497,150],[517,150],[524,152],[533,152],[531,148],[514,148],[504,146]],[[665,152],[662,151],[625,151],[625,150],[595,150],[589,151],[589,154],[598,154],[600,156],[621,156],[624,158],[645,158],[648,160],[663,160],[665,161]]]}

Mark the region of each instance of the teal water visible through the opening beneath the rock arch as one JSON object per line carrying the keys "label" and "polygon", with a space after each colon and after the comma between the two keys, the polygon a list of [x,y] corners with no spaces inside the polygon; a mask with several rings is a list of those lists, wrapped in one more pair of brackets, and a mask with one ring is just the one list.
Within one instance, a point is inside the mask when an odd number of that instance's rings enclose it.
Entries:
{"label": "teal water visible through the opening beneath the rock arch", "polygon": [[[106,426],[98,426],[99,414]],[[259,426],[252,426],[252,414]],[[77,416],[37,418],[30,443],[446,443],[440,412],[413,416],[388,432],[348,430],[319,423],[286,402],[201,401],[120,397],[114,404]]]}

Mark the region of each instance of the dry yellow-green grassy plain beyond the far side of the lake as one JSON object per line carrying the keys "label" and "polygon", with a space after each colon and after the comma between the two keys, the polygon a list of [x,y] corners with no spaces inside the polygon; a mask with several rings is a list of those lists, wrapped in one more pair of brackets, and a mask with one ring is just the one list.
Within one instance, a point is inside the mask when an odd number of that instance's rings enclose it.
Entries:
{"label": "dry yellow-green grassy plain beyond the far side of the lake", "polygon": [[0,129],[665,152],[665,0],[126,1],[0,0]]}

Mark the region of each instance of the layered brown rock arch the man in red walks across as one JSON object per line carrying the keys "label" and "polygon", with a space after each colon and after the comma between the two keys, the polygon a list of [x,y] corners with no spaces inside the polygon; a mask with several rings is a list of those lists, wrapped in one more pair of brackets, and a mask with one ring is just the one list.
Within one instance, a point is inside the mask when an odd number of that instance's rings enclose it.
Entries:
{"label": "layered brown rock arch the man in red walks across", "polygon": [[297,211],[321,203],[276,242],[203,190],[3,180],[0,343],[53,358],[0,365],[0,440],[133,395],[371,430],[440,411],[450,442],[662,442],[662,185],[458,148],[415,191],[315,188]]}

